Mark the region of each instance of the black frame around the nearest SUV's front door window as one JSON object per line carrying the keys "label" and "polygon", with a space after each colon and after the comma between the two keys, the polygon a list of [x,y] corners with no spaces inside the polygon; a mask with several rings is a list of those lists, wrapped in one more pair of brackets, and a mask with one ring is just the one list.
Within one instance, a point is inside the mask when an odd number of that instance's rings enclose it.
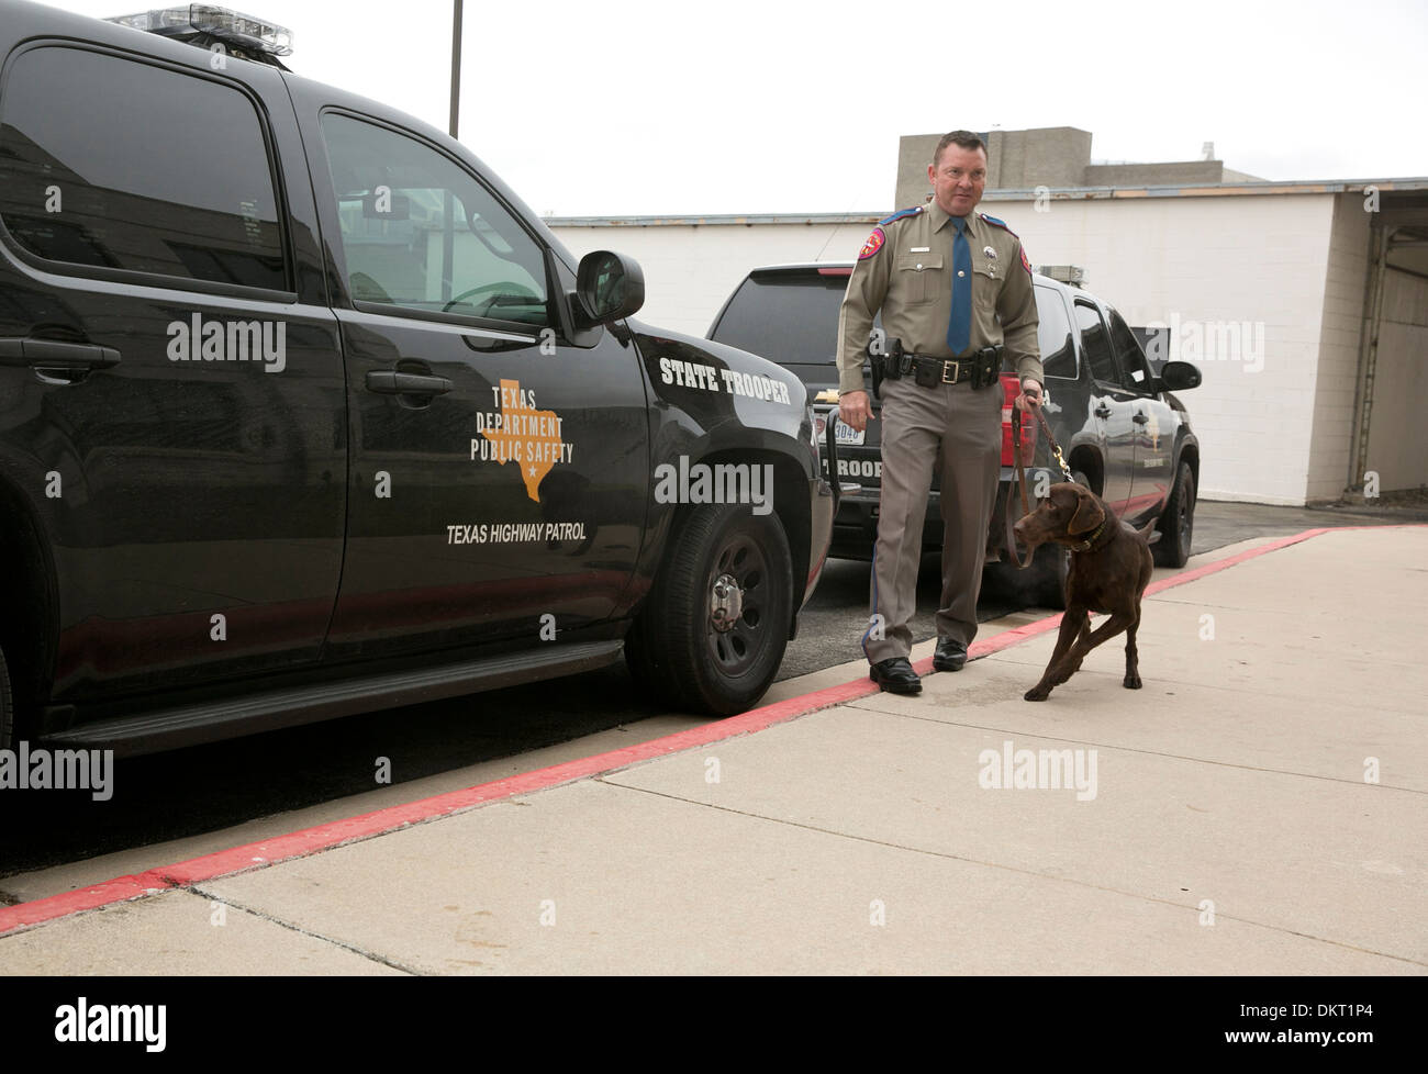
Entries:
{"label": "black frame around the nearest SUV's front door window", "polygon": [[[456,169],[458,169],[463,174],[466,174],[473,183],[476,183],[516,223],[516,226],[520,229],[520,233],[524,234],[531,241],[536,251],[540,254],[541,270],[544,273],[544,284],[545,284],[544,324],[533,324],[530,321],[501,320],[497,317],[471,317],[468,314],[461,314],[454,311],[423,310],[414,306],[401,306],[397,303],[378,303],[354,297],[351,288],[351,271],[348,268],[348,259],[347,259],[347,244],[343,240],[341,234],[341,206],[337,200],[337,183],[333,176],[333,164],[331,164],[331,156],[328,154],[327,150],[327,139],[323,134],[323,123],[328,116],[341,116],[344,119],[350,119],[357,123],[366,123],[373,127],[380,127],[397,137],[410,139],[411,141],[420,144],[421,147],[428,149],[444,157]],[[333,227],[337,229],[334,234],[330,236],[327,240],[327,249],[331,251],[331,261],[333,261],[331,270],[337,273],[337,278],[331,281],[331,284],[334,284],[334,287],[331,287],[334,306],[337,304],[336,297],[341,294],[346,298],[347,306],[351,307],[353,310],[358,310],[361,313],[380,314],[384,317],[401,317],[417,321],[428,321],[433,324],[481,328],[487,333],[511,334],[516,338],[528,338],[528,340],[538,338],[541,333],[547,330],[555,331],[558,336],[564,336],[561,328],[561,326],[564,324],[564,318],[561,317],[561,313],[557,308],[557,303],[565,301],[565,298],[561,287],[558,286],[558,280],[554,278],[555,274],[551,271],[551,260],[554,251],[544,241],[541,241],[541,237],[534,230],[531,230],[526,217],[520,211],[517,211],[516,207],[511,206],[504,197],[501,197],[500,193],[494,190],[491,184],[488,184],[480,176],[480,173],[471,169],[458,156],[450,153],[446,147],[423,136],[420,131],[411,130],[410,127],[404,127],[400,123],[393,123],[391,120],[383,119],[380,116],[373,116],[370,113],[358,111],[356,109],[343,104],[327,104],[317,110],[317,131],[321,136],[321,154],[323,154],[323,164],[326,167],[326,176],[323,176],[323,181],[316,181],[317,177],[314,176],[314,186],[318,187],[320,191],[318,200],[321,201],[323,206],[326,206],[326,213],[330,214]],[[308,153],[311,154],[311,149],[308,150]],[[555,257],[555,260],[558,260],[558,257]]]}

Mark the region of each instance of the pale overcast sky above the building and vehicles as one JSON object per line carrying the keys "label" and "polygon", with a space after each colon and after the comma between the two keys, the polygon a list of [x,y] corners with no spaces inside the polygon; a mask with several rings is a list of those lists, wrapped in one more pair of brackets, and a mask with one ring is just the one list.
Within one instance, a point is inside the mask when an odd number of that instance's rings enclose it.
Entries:
{"label": "pale overcast sky above the building and vehicles", "polygon": [[[298,74],[446,129],[450,0],[233,6],[293,30]],[[1098,161],[1214,141],[1277,180],[1428,176],[1422,0],[537,0],[464,20],[461,141],[537,213],[888,210],[898,136],[955,127],[1081,127]]]}

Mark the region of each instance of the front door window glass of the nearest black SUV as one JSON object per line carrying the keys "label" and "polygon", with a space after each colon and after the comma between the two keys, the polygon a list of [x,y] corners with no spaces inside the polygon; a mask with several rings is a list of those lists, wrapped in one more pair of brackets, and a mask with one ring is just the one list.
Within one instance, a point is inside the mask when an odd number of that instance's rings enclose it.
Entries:
{"label": "front door window glass of the nearest black SUV", "polygon": [[540,246],[470,173],[348,116],[324,116],[323,137],[354,300],[550,321]]}

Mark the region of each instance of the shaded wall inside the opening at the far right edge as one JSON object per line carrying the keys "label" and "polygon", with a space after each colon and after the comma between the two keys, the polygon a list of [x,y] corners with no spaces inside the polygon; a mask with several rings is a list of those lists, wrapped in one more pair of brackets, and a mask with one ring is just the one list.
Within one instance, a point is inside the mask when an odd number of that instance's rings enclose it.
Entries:
{"label": "shaded wall inside the opening at the far right edge", "polygon": [[1428,280],[1388,270],[1378,328],[1367,470],[1381,491],[1428,484]]}

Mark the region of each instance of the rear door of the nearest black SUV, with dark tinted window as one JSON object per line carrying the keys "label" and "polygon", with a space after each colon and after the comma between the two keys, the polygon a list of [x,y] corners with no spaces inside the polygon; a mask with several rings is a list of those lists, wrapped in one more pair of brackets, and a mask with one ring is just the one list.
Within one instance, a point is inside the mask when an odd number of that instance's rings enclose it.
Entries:
{"label": "rear door of the nearest black SUV, with dark tinted window", "polygon": [[291,104],[190,51],[6,61],[0,437],[47,476],[59,703],[310,664],[337,594],[343,367]]}

